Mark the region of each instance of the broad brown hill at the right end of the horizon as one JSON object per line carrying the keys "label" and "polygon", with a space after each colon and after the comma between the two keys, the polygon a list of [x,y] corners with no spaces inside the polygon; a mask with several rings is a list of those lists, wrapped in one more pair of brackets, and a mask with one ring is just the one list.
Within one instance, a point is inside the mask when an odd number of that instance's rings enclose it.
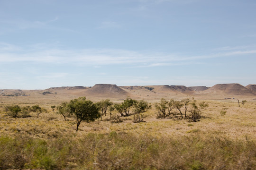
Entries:
{"label": "broad brown hill at the right end of the horizon", "polygon": [[254,95],[251,90],[240,84],[218,84],[201,91],[201,93],[213,95]]}

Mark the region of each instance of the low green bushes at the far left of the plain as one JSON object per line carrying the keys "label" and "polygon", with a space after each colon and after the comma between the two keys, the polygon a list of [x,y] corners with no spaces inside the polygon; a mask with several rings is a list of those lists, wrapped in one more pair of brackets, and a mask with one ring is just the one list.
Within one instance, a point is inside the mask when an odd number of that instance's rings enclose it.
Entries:
{"label": "low green bushes at the far left of the plain", "polygon": [[42,112],[47,112],[46,109],[39,107],[39,105],[34,106],[23,106],[19,105],[9,105],[5,106],[6,115],[12,118],[27,118],[30,117],[30,112],[37,113],[37,118]]}

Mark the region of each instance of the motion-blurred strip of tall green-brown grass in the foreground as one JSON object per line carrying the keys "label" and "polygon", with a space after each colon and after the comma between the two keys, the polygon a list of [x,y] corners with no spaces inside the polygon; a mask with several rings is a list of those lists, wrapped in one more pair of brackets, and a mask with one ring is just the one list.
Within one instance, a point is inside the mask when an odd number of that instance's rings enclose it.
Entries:
{"label": "motion-blurred strip of tall green-brown grass in the foreground", "polygon": [[0,169],[255,170],[256,141],[225,137],[94,134],[50,140],[0,136]]}

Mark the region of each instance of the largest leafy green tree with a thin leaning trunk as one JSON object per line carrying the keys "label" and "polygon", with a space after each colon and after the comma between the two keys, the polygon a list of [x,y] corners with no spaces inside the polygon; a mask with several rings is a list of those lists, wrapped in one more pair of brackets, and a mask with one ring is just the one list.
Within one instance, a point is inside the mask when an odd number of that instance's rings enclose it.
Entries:
{"label": "largest leafy green tree with a thin leaning trunk", "polygon": [[86,100],[86,97],[79,97],[78,99],[73,99],[68,103],[70,113],[76,118],[76,131],[82,121],[94,121],[100,118],[100,108],[91,102],[91,100]]}

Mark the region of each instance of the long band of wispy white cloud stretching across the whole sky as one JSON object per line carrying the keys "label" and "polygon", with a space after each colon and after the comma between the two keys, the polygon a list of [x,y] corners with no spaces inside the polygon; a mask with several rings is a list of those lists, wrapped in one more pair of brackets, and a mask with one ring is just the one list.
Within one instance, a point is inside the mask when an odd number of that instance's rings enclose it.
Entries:
{"label": "long band of wispy white cloud stretching across the whole sky", "polygon": [[[181,53],[161,53],[153,51],[128,51],[120,49],[51,49],[34,46],[27,50],[11,44],[0,43],[0,63],[37,62],[52,64],[74,64],[78,66],[125,64],[130,67],[161,67],[172,65],[202,64],[203,59],[222,58],[247,54],[256,54],[254,49],[237,50],[230,47],[229,51],[214,51],[199,56],[187,56]],[[233,49],[233,50],[232,50]]]}

